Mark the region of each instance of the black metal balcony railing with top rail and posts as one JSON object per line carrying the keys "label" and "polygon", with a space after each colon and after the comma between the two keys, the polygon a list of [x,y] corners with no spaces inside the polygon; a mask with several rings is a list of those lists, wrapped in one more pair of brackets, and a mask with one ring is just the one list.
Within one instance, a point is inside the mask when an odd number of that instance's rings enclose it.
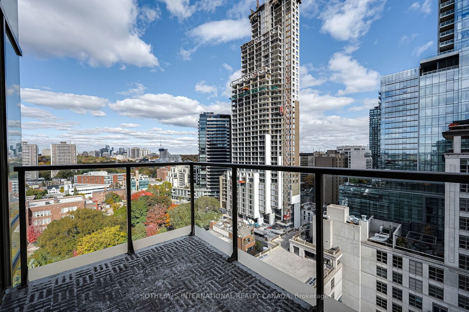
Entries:
{"label": "black metal balcony railing with top rail and posts", "polygon": [[[43,170],[78,170],[78,169],[112,169],[112,168],[125,168],[127,177],[131,176],[131,168],[139,167],[164,167],[174,165],[189,165],[190,170],[190,234],[195,235],[195,207],[194,207],[194,172],[195,166],[213,166],[221,168],[229,168],[232,170],[231,183],[232,185],[238,184],[237,170],[251,170],[251,171],[283,171],[295,173],[308,173],[314,174],[315,181],[315,201],[316,215],[323,215],[324,213],[324,199],[323,199],[323,179],[324,175],[337,175],[345,177],[360,177],[360,178],[381,178],[381,179],[395,179],[398,177],[400,180],[410,181],[425,181],[425,182],[447,182],[447,183],[467,183],[467,173],[446,173],[446,172],[426,172],[426,171],[401,171],[401,170],[372,170],[372,169],[349,169],[349,168],[324,168],[324,167],[297,167],[297,166],[280,166],[280,165],[251,165],[241,163],[207,163],[207,162],[174,162],[174,163],[104,163],[104,164],[70,164],[70,165],[44,165],[44,166],[15,166],[14,171],[18,172],[18,189],[19,189],[19,224],[20,224],[20,250],[15,256],[13,263],[20,264],[21,270],[21,283],[19,287],[26,287],[28,285],[28,263],[27,263],[27,216],[26,216],[26,184],[25,172],[26,171],[43,171]],[[134,253],[134,246],[132,242],[131,233],[131,186],[130,178],[126,178],[127,188],[127,250],[128,253]],[[238,198],[237,187],[232,187],[232,198]],[[238,215],[238,203],[232,201],[232,215]],[[324,311],[324,219],[316,218],[316,242],[317,244],[310,244],[316,248],[316,272],[317,272],[317,306],[316,311]],[[14,220],[15,221],[15,220]],[[15,221],[18,222],[18,221]],[[228,257],[228,261],[238,259],[238,218],[232,218],[233,222],[233,251]],[[12,221],[13,223],[13,221]],[[296,237],[299,240],[298,237]],[[327,251],[327,253],[336,254],[336,251]],[[16,266],[17,268],[18,266]]]}

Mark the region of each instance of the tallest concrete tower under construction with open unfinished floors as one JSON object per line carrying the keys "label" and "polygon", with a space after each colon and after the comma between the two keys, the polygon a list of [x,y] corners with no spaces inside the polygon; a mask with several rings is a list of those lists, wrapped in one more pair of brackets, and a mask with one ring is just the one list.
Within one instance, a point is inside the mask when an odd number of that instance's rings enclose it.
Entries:
{"label": "tallest concrete tower under construction with open unfinished floors", "polygon": [[[231,82],[232,162],[296,165],[299,156],[300,0],[266,1],[249,15],[251,40],[241,46],[242,77]],[[300,225],[300,176],[240,170],[238,213],[244,219]],[[231,171],[220,200],[231,214]],[[298,215],[298,220],[295,216]]]}

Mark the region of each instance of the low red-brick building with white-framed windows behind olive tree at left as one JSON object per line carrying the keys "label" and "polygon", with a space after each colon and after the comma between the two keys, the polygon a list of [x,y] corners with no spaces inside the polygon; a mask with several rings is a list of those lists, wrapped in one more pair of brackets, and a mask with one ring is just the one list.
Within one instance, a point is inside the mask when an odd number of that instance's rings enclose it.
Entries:
{"label": "low red-brick building with white-framed windows behind olive tree at left", "polygon": [[60,220],[68,215],[68,212],[85,208],[85,200],[82,195],[41,200],[33,200],[33,198],[30,196],[26,200],[28,222],[30,225],[39,226],[41,230],[44,230],[47,224],[53,220]]}

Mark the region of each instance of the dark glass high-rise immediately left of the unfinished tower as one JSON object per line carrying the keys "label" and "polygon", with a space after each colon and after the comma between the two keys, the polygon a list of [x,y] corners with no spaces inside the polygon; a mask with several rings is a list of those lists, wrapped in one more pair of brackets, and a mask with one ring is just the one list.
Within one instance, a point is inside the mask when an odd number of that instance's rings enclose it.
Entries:
{"label": "dark glass high-rise immediately left of the unfinished tower", "polygon": [[[209,163],[229,163],[231,161],[231,122],[230,115],[204,112],[198,122],[199,161]],[[201,167],[200,187],[219,196],[220,176],[227,168]]]}

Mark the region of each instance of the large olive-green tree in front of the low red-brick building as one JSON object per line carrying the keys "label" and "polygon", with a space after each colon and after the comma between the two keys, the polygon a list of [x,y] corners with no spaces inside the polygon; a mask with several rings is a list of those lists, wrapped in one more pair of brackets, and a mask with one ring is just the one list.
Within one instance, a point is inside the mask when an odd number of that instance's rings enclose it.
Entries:
{"label": "large olive-green tree in front of the low red-brick building", "polygon": [[71,217],[53,220],[42,231],[37,240],[40,248],[31,258],[45,265],[73,256],[77,240],[105,227],[116,225],[125,228],[125,219],[114,215],[105,215],[102,211],[79,208],[69,213]]}

